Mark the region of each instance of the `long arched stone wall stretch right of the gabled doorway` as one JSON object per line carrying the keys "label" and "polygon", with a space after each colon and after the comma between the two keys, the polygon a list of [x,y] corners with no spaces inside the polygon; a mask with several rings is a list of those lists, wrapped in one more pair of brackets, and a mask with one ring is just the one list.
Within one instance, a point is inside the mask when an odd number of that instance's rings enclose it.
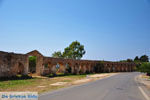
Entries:
{"label": "long arched stone wall stretch right of the gabled doorway", "polygon": [[[85,74],[85,73],[102,73],[102,72],[132,72],[136,65],[128,62],[106,62],[106,61],[91,61],[91,60],[73,60],[62,58],[44,57],[43,74],[49,73],[66,73],[68,66],[72,74]],[[57,69],[57,65],[60,68]]]}

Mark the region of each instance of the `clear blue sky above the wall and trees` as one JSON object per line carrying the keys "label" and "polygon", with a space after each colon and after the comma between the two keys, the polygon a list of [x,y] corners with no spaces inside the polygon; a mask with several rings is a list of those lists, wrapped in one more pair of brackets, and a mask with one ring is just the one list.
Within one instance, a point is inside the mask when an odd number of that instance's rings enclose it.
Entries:
{"label": "clear blue sky above the wall and trees", "polygon": [[0,0],[0,51],[45,56],[78,40],[84,59],[150,56],[150,0]]}

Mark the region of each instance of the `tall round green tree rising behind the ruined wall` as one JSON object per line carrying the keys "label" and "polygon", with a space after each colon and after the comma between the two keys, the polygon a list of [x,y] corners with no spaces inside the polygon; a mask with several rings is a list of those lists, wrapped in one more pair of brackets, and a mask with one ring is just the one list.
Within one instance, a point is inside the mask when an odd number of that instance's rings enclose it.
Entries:
{"label": "tall round green tree rising behind the ruined wall", "polygon": [[69,45],[69,47],[64,49],[63,57],[70,59],[81,59],[84,54],[84,45],[81,45],[78,41],[74,41]]}

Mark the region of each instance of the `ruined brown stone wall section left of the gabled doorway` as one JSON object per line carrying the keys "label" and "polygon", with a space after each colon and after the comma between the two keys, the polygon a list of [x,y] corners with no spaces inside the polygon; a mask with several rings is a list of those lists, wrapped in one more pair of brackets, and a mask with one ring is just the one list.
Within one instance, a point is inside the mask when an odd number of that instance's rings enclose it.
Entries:
{"label": "ruined brown stone wall section left of the gabled doorway", "polygon": [[0,51],[0,77],[28,74],[27,55]]}

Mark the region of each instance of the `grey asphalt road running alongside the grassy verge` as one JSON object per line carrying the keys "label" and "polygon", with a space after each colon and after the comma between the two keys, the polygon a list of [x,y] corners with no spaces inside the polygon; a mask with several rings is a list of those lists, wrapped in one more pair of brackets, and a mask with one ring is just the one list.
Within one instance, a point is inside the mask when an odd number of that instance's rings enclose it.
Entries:
{"label": "grey asphalt road running alongside the grassy verge", "polygon": [[39,100],[146,100],[135,81],[139,73],[120,73],[87,84],[42,94]]}

